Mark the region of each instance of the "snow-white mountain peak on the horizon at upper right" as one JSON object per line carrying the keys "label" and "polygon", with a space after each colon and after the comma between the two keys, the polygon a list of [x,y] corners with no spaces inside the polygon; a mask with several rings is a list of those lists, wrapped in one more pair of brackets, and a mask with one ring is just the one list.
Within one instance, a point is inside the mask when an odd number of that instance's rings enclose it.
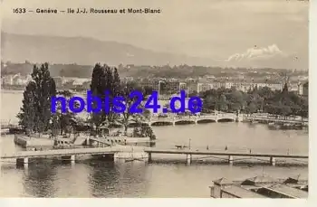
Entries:
{"label": "snow-white mountain peak on the horizon at upper right", "polygon": [[254,48],[249,48],[246,52],[230,55],[226,61],[256,61],[270,59],[278,55],[286,56],[286,54],[282,52],[276,44],[262,48],[257,48],[255,45]]}

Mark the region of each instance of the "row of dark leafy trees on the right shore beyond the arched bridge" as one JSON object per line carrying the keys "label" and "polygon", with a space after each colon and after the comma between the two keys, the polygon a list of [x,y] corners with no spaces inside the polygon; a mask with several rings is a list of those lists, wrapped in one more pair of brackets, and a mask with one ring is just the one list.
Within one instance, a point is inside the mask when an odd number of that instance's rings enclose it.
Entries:
{"label": "row of dark leafy trees on the right shore beyond the arched bridge", "polygon": [[285,83],[283,90],[268,87],[243,92],[233,89],[210,89],[198,94],[204,99],[203,111],[264,112],[282,116],[308,116],[308,97],[289,91]]}

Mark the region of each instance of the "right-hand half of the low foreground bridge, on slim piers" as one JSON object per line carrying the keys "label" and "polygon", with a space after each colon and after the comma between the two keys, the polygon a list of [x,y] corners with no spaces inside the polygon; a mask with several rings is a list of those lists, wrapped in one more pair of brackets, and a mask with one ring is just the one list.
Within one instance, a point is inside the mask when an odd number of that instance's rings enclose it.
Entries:
{"label": "right-hand half of the low foreground bridge, on slim piers", "polygon": [[299,158],[308,159],[308,155],[283,155],[283,154],[262,154],[262,153],[235,153],[235,152],[212,152],[212,151],[195,151],[195,150],[184,150],[184,149],[156,149],[148,148],[144,150],[147,153],[149,162],[152,160],[152,154],[166,154],[166,155],[186,155],[187,165],[192,162],[193,155],[214,155],[214,156],[225,156],[229,164],[233,164],[235,157],[264,157],[268,158],[271,165],[276,164],[276,158]]}

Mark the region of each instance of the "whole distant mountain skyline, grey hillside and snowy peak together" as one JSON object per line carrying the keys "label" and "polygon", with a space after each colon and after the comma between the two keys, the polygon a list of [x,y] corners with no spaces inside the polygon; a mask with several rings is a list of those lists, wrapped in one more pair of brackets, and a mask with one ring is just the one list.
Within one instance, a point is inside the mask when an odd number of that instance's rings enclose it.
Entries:
{"label": "whole distant mountain skyline, grey hillside and snowy peak together", "polygon": [[[204,65],[214,67],[274,68],[307,70],[308,59],[296,59],[277,45],[251,48],[224,60],[189,57],[168,52],[154,52],[126,43],[99,41],[86,37],[58,37],[1,33],[2,61],[44,62],[93,65]],[[212,50],[212,48],[210,49]]]}

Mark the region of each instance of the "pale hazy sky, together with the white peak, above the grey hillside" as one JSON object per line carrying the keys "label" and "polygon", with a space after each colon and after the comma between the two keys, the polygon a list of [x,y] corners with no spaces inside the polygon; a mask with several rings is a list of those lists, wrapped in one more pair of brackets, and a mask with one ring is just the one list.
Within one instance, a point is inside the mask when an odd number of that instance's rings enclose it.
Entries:
{"label": "pale hazy sky, together with the white peak, above the grey hillside", "polygon": [[[308,65],[309,4],[297,0],[2,0],[6,33],[83,36],[216,61]],[[159,8],[161,14],[13,14],[14,7]]]}

